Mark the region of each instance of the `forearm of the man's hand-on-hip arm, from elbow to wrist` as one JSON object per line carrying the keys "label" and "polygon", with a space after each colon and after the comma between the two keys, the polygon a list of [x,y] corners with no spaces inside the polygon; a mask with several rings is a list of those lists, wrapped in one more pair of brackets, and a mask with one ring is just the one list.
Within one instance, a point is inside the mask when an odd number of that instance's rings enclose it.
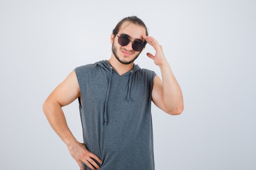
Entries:
{"label": "forearm of the man's hand-on-hip arm, from elbow to wrist", "polygon": [[58,102],[53,102],[50,99],[47,99],[43,104],[43,111],[53,130],[67,146],[77,142],[67,126],[65,115]]}

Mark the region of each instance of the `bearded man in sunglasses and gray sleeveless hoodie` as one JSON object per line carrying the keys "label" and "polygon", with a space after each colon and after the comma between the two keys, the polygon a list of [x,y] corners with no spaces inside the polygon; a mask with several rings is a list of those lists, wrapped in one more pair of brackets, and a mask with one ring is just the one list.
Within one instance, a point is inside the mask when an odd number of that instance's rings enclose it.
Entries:
{"label": "bearded man in sunglasses and gray sleeveless hoodie", "polygon": [[[109,60],[74,69],[46,99],[43,110],[81,170],[154,170],[151,101],[170,115],[183,111],[183,98],[162,46],[148,37],[136,16],[113,30]],[[159,66],[141,69],[134,60],[146,43],[156,53],[147,56]],[[61,107],[79,99],[84,144],[67,126]]]}

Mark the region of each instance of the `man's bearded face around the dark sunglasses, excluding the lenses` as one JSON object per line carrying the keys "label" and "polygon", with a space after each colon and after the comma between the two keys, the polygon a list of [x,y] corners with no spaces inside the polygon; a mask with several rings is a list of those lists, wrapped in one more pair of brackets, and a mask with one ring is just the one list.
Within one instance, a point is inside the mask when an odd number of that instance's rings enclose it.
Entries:
{"label": "man's bearded face around the dark sunglasses, excluding the lenses", "polygon": [[[118,36],[126,35],[131,41],[143,40],[142,35],[146,35],[146,30],[142,26],[135,25],[130,22],[124,22],[120,29]],[[111,36],[112,41],[112,52],[116,59],[122,64],[130,64],[139,57],[139,54],[143,51],[134,51],[132,49],[132,42],[130,41],[128,45],[121,46],[118,43],[118,37],[114,35]]]}

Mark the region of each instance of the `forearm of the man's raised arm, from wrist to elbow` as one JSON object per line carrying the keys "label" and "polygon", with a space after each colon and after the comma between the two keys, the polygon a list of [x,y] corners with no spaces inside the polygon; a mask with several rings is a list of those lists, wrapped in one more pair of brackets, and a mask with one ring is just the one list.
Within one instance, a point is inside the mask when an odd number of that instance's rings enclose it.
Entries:
{"label": "forearm of the man's raised arm, from wrist to elbow", "polygon": [[168,113],[178,115],[183,111],[183,97],[180,86],[175,79],[168,62],[159,65],[163,83],[163,102]]}

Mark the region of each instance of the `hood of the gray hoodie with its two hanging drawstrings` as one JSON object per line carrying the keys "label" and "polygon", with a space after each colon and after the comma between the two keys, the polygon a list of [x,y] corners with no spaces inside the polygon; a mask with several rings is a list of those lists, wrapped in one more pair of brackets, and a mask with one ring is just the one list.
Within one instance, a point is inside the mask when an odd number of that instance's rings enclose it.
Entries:
{"label": "hood of the gray hoodie with its two hanging drawstrings", "polygon": [[[106,100],[105,100],[105,108],[104,108],[104,113],[103,113],[103,117],[104,117],[104,125],[108,124],[108,97],[109,97],[109,90],[110,90],[110,85],[111,85],[111,78],[113,74],[118,74],[117,71],[115,71],[112,66],[109,64],[108,60],[102,60],[99,62],[96,62],[95,64],[98,64],[99,66],[101,66],[105,71],[109,72],[110,76],[109,76],[109,81],[108,81],[108,90],[107,90],[107,94],[106,94]],[[141,68],[136,65],[133,64],[132,70],[128,71],[127,73],[125,73],[122,76],[126,76],[126,75],[130,75],[129,77],[129,85],[128,85],[128,93],[126,95],[126,98],[128,101],[130,101],[130,89],[132,86],[132,76],[134,75],[134,73],[138,70],[140,70]]]}

